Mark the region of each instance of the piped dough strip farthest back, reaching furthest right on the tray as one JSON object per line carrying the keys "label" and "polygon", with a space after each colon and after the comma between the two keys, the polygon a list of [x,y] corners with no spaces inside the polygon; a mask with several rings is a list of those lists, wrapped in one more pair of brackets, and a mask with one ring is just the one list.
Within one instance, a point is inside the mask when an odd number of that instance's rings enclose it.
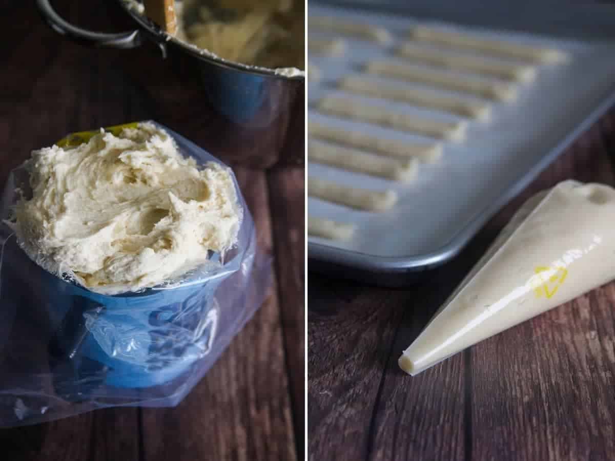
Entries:
{"label": "piped dough strip farthest back, reaching furthest right on the tray", "polygon": [[412,28],[410,37],[417,41],[446,45],[454,49],[475,50],[494,56],[515,58],[533,63],[558,64],[568,61],[568,54],[561,50],[477,37],[472,34],[445,31],[429,26]]}

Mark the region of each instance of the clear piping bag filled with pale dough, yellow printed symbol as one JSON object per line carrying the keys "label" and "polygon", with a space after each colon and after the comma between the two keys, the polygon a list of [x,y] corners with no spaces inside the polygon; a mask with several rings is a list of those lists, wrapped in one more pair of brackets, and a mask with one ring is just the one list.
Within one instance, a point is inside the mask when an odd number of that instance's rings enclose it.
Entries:
{"label": "clear piping bag filled with pale dough, yellow printed symbol", "polygon": [[399,358],[418,374],[615,278],[615,189],[563,181],[529,199]]}

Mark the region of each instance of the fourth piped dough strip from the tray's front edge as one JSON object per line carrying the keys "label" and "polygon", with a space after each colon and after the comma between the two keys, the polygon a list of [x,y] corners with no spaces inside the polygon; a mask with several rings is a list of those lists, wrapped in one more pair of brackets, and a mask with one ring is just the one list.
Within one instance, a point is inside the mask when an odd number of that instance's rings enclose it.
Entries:
{"label": "fourth piped dough strip from the tray's front edge", "polygon": [[331,127],[312,120],[308,122],[308,134],[314,138],[333,141],[386,157],[398,157],[400,159],[416,157],[427,163],[437,162],[442,157],[442,144],[440,143],[419,144],[388,140],[359,131]]}

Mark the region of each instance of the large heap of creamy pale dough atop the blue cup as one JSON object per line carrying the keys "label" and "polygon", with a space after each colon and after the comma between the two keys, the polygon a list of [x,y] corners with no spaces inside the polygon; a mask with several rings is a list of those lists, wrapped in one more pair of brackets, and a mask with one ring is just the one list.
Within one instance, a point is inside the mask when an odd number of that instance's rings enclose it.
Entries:
{"label": "large heap of creamy pale dough atop the blue cup", "polygon": [[25,167],[32,197],[15,208],[18,242],[92,291],[176,280],[236,243],[242,210],[229,168],[197,166],[153,124],[33,151]]}

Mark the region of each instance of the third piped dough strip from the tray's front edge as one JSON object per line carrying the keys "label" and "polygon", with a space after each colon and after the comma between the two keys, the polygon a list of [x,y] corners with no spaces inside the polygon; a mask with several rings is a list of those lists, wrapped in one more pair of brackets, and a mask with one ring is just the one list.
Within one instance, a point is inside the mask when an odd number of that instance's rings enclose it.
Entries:
{"label": "third piped dough strip from the tray's front edge", "polygon": [[419,165],[418,159],[387,159],[357,149],[314,140],[308,141],[308,160],[395,181],[410,181],[416,176]]}

